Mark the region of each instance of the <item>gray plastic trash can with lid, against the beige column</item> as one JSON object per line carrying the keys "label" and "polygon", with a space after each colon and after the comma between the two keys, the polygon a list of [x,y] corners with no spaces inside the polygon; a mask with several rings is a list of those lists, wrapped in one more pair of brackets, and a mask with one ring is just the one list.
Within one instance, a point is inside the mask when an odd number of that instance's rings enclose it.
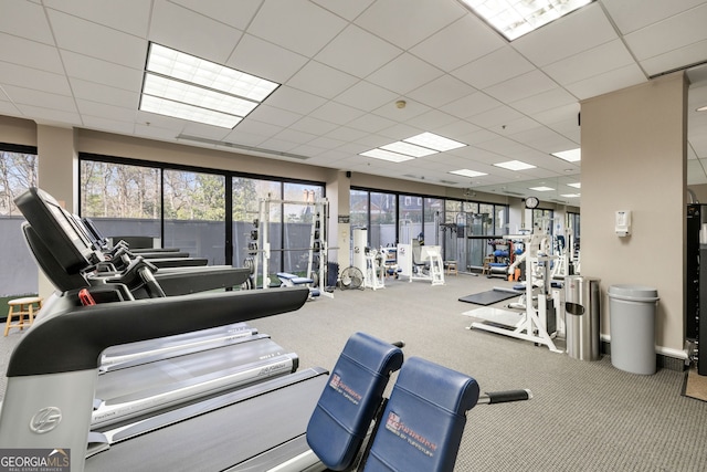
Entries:
{"label": "gray plastic trash can with lid, against the beige column", "polygon": [[655,374],[657,290],[642,285],[611,285],[606,294],[611,364],[632,374]]}

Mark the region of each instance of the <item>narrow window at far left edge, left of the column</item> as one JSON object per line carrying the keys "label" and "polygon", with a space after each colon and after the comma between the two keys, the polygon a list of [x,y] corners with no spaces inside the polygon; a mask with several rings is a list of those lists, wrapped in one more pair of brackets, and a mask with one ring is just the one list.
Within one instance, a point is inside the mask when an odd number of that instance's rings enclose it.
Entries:
{"label": "narrow window at far left edge, left of the column", "polygon": [[0,260],[11,271],[0,273],[0,296],[36,294],[39,269],[22,234],[24,217],[14,199],[36,187],[36,149],[0,144]]}

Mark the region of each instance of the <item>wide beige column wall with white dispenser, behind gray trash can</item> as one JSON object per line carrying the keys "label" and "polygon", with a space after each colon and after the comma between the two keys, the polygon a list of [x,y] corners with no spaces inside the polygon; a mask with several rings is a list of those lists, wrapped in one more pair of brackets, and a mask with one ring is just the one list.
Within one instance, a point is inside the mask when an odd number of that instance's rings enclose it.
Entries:
{"label": "wide beige column wall with white dispenser, behind gray trash can", "polygon": [[[658,352],[685,355],[686,96],[683,73],[582,102],[582,275],[606,290],[657,289]],[[632,211],[632,233],[614,232],[616,210]]]}

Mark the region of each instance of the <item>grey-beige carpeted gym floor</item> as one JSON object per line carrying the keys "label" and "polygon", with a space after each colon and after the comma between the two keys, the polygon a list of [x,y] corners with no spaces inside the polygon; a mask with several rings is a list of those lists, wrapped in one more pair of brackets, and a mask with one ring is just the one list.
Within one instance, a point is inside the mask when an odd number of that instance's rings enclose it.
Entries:
{"label": "grey-beige carpeted gym floor", "polygon": [[[251,325],[297,353],[302,367],[330,368],[348,336],[361,331],[404,340],[407,357],[468,374],[484,391],[532,390],[530,401],[468,412],[455,471],[707,470],[707,402],[682,395],[684,373],[627,374],[606,356],[581,361],[466,329],[469,305],[458,298],[505,284],[464,274],[443,286],[392,280],[378,291],[337,290],[333,300]],[[1,369],[20,337],[0,339]]]}

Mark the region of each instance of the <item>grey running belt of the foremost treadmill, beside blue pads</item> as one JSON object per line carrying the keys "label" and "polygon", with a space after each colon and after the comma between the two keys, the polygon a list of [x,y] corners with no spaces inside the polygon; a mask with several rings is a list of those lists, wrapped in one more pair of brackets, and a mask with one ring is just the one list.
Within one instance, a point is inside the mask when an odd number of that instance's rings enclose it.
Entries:
{"label": "grey running belt of the foremost treadmill, beside blue pads", "polygon": [[303,434],[325,388],[323,373],[220,410],[120,442],[86,471],[222,471]]}

